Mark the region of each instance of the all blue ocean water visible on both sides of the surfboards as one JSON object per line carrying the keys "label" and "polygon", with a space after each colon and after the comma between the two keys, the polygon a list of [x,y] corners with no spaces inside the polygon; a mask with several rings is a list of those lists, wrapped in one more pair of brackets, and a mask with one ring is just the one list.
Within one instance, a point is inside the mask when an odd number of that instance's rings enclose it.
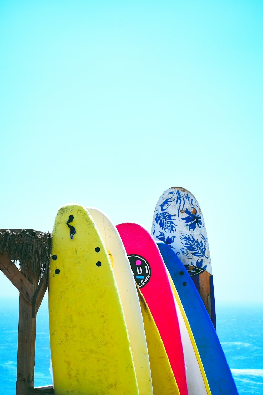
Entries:
{"label": "all blue ocean water visible on both sides of the surfboards", "polygon": [[[15,395],[18,298],[0,298],[2,393]],[[217,333],[240,395],[263,394],[263,305],[216,305]],[[37,313],[35,386],[51,384],[46,297]]]}

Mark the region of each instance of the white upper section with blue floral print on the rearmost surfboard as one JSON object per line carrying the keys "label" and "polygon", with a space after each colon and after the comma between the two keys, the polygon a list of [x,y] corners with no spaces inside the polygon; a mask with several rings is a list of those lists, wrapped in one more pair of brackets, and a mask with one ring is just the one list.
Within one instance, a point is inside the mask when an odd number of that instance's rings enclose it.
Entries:
{"label": "white upper section with blue floral print on the rearmost surfboard", "polygon": [[169,188],[157,202],[152,235],[168,244],[186,266],[212,274],[209,246],[200,206],[183,188]]}

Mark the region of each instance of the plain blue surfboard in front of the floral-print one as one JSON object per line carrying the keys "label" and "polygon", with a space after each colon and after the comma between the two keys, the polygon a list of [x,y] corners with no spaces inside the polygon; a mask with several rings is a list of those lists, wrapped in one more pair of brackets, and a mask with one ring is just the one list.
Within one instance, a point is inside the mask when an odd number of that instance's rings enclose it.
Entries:
{"label": "plain blue surfboard in front of the floral-print one", "polygon": [[237,395],[215,328],[187,269],[170,246],[158,243],[158,247],[187,315],[211,393]]}

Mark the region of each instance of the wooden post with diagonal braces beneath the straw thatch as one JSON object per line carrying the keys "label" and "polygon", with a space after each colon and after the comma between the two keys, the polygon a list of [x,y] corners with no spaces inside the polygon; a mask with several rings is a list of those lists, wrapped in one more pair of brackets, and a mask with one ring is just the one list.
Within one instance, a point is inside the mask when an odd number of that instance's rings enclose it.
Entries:
{"label": "wooden post with diagonal braces beneath the straw thatch", "polygon": [[50,395],[54,393],[52,386],[34,387],[36,315],[48,287],[48,268],[40,281],[37,275],[28,279],[5,254],[0,254],[0,269],[20,292],[16,395]]}

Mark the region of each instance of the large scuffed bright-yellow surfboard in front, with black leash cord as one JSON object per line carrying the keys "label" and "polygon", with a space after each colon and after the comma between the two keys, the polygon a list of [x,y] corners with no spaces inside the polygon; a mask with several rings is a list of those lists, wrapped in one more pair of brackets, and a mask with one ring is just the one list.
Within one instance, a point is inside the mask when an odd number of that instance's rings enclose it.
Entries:
{"label": "large scuffed bright-yellow surfboard in front, with black leash cord", "polygon": [[56,395],[139,395],[119,291],[90,214],[60,207],[48,276]]}

